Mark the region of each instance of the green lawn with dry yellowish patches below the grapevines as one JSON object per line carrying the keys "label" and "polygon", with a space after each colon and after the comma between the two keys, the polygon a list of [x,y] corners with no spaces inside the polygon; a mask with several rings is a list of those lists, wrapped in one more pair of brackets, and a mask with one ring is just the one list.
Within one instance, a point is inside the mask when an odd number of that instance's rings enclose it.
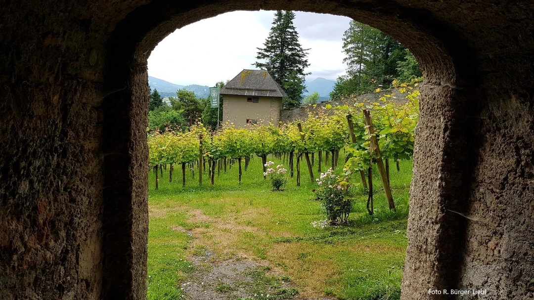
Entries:
{"label": "green lawn with dry yellowish patches below the grapevines", "polygon": [[[269,160],[280,163],[272,157]],[[187,257],[207,250],[219,259],[243,256],[260,260],[269,270],[272,267],[291,278],[303,296],[398,299],[407,246],[411,164],[401,162],[400,172],[391,164],[397,212],[388,209],[375,170],[375,214],[367,214],[367,194],[355,176],[352,181],[358,191],[350,223],[322,229],[310,225],[325,216],[313,200],[311,190],[316,185],[305,161],[301,162],[302,185],[297,187],[296,179],[288,178],[284,192],[270,191],[258,157],[243,172],[240,185],[237,162],[215,176],[214,186],[207,172],[199,186],[198,170],[194,179],[188,170],[187,185],[182,188],[181,168],[176,166],[173,182],[169,183],[167,167],[156,191],[151,171],[148,299],[180,299],[180,282],[193,271]],[[318,177],[317,165],[313,171]]]}

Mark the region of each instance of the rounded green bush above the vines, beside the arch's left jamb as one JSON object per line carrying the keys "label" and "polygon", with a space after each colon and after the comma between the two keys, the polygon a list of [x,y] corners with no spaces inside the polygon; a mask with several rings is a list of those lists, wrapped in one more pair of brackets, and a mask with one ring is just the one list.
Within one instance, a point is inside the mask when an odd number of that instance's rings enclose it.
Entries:
{"label": "rounded green bush above the vines, beside the arch's left jamb", "polygon": [[167,105],[160,106],[148,112],[149,132],[163,133],[168,130],[185,130],[187,122],[181,110],[174,110]]}

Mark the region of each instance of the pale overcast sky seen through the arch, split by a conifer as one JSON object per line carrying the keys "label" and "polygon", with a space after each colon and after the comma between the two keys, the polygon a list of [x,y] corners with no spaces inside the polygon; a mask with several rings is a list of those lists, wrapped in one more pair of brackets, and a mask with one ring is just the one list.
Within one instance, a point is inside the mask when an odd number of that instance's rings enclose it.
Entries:
{"label": "pale overcast sky seen through the arch, split by a conifer", "polygon": [[[213,86],[242,69],[255,69],[256,48],[263,48],[274,11],[237,11],[177,29],[152,51],[148,75],[172,83]],[[300,43],[309,50],[307,80],[336,80],[344,74],[343,32],[350,18],[296,12],[293,20]]]}

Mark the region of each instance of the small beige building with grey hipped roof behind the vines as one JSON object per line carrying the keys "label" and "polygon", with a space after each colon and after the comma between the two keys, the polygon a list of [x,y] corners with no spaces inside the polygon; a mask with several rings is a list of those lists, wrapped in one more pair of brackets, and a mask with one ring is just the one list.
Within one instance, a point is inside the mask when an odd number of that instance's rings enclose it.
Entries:
{"label": "small beige building with grey hipped roof behind the vines", "polygon": [[220,92],[224,97],[223,122],[278,124],[286,92],[264,70],[242,70]]}

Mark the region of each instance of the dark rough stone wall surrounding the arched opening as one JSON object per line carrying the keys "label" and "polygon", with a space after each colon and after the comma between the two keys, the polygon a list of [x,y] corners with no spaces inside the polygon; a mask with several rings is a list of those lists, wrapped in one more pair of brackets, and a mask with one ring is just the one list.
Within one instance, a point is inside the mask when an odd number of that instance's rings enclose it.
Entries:
{"label": "dark rough stone wall surrounding the arched opening", "polygon": [[0,298],[145,297],[146,59],[176,28],[259,9],[346,15],[420,62],[402,298],[534,297],[531,1],[0,4]]}

